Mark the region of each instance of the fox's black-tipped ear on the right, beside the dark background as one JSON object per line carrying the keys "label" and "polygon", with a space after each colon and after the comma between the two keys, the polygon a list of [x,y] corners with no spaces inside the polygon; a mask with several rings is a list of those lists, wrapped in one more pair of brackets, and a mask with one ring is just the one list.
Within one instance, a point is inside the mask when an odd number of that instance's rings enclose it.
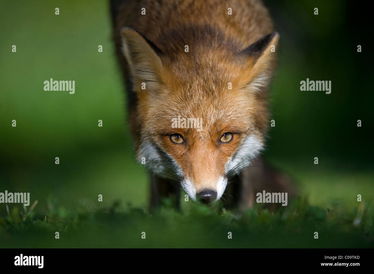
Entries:
{"label": "fox's black-tipped ear on the right, beside the dark background", "polygon": [[274,31],[257,40],[239,53],[246,56],[245,81],[251,90],[261,91],[268,87],[275,66],[275,47],[279,33]]}

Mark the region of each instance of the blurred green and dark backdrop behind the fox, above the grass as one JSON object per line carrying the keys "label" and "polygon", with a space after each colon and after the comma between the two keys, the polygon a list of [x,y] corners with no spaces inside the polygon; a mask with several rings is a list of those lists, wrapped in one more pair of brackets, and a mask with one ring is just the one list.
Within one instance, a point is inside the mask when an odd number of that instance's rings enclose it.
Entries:
{"label": "blurred green and dark backdrop behind the fox, above the grass", "polygon": [[[355,2],[265,4],[281,34],[266,159],[298,181],[312,206],[358,207],[357,194],[372,206],[370,16]],[[114,201],[147,208],[148,174],[134,160],[108,8],[93,0],[0,3],[0,192],[30,192],[42,215],[48,199],[67,210]],[[75,80],[75,94],[44,91],[50,78]],[[331,94],[300,91],[306,78],[330,80]]]}

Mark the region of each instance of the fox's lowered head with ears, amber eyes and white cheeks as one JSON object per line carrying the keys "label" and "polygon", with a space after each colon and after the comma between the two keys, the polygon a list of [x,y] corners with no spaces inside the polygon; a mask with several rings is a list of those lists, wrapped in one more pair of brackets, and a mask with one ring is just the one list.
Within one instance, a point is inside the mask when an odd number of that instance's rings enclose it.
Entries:
{"label": "fox's lowered head with ears, amber eyes and white cheeks", "polygon": [[179,181],[193,200],[220,199],[228,178],[264,147],[278,40],[273,32],[247,47],[209,42],[161,50],[123,28],[137,96],[131,119],[138,160],[144,157],[151,172]]}

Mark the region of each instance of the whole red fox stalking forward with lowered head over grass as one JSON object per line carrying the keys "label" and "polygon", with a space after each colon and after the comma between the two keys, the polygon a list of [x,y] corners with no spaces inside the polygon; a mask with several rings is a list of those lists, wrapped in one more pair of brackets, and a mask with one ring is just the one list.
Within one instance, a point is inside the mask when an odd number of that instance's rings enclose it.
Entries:
{"label": "whole red fox stalking forward with lowered head over grass", "polygon": [[289,186],[255,160],[265,145],[279,40],[260,1],[112,0],[111,16],[152,206],[178,197],[179,186],[201,203],[226,190],[227,206],[245,207],[256,187]]}

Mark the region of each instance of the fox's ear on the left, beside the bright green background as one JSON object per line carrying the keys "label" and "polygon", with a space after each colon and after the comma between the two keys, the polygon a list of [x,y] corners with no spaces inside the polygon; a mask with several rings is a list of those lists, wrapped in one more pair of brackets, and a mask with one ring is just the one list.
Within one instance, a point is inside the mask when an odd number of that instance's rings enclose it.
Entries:
{"label": "fox's ear on the left, beside the bright green background", "polygon": [[162,51],[135,29],[122,29],[123,54],[129,64],[134,85],[141,82],[161,82]]}

